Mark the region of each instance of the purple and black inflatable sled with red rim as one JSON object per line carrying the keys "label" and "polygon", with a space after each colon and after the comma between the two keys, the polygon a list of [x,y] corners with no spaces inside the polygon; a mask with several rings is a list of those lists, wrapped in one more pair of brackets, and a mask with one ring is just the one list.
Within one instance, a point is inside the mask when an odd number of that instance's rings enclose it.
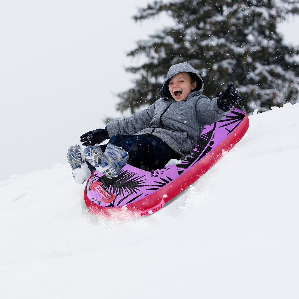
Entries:
{"label": "purple and black inflatable sled with red rim", "polygon": [[223,120],[205,126],[193,152],[181,164],[153,172],[126,164],[112,179],[95,171],[84,190],[89,211],[102,218],[124,220],[161,210],[234,147],[248,126],[247,115],[233,109]]}

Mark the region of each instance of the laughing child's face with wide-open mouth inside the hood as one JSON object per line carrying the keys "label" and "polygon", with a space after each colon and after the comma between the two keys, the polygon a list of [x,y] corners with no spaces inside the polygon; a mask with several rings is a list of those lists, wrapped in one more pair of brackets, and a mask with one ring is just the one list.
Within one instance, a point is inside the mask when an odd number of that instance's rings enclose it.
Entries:
{"label": "laughing child's face with wide-open mouth inside the hood", "polygon": [[170,78],[168,88],[172,97],[178,102],[185,100],[196,86],[197,82],[191,83],[190,75],[182,72]]}

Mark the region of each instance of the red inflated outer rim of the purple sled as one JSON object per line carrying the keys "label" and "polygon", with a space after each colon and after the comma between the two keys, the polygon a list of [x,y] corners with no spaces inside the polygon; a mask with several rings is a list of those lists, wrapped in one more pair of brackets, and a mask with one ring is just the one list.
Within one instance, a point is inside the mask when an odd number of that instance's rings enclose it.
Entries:
{"label": "red inflated outer rim of the purple sled", "polygon": [[212,152],[206,155],[197,164],[191,167],[186,173],[165,185],[154,193],[150,194],[137,202],[124,205],[122,207],[101,207],[94,204],[86,195],[84,190],[84,200],[89,208],[89,212],[105,219],[125,220],[136,217],[146,216],[163,208],[164,204],[206,173],[215,165],[228,151],[230,151],[245,135],[249,127],[249,119],[245,114],[242,122],[231,134],[223,140]]}

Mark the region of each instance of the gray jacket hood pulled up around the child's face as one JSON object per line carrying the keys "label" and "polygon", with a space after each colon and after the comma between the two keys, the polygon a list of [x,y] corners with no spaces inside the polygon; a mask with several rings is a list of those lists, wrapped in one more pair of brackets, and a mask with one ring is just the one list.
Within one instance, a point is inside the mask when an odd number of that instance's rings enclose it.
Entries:
{"label": "gray jacket hood pulled up around the child's face", "polygon": [[202,91],[204,89],[204,82],[202,80],[202,77],[200,77],[199,73],[195,70],[195,68],[193,68],[192,65],[190,65],[187,62],[182,62],[182,63],[172,65],[169,68],[167,76],[166,76],[166,78],[164,79],[164,82],[163,82],[163,87],[159,92],[159,96],[161,98],[166,98],[167,97],[167,98],[172,99],[172,96],[171,96],[171,94],[169,92],[169,89],[168,89],[168,83],[169,83],[171,77],[173,77],[174,75],[179,74],[181,72],[187,72],[187,73],[195,74],[196,77],[197,77],[197,80],[196,80],[197,81],[197,86],[196,86],[196,89],[194,89],[192,92],[199,91],[200,93],[202,93]]}

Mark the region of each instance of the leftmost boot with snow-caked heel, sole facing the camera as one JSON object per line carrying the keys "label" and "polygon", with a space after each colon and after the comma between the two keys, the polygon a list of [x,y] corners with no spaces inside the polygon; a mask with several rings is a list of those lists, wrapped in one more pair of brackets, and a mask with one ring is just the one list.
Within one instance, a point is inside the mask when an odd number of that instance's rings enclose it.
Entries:
{"label": "leftmost boot with snow-caked heel, sole facing the camera", "polygon": [[72,175],[77,184],[83,184],[91,175],[88,165],[82,160],[80,145],[72,145],[68,149],[68,164],[72,168]]}

